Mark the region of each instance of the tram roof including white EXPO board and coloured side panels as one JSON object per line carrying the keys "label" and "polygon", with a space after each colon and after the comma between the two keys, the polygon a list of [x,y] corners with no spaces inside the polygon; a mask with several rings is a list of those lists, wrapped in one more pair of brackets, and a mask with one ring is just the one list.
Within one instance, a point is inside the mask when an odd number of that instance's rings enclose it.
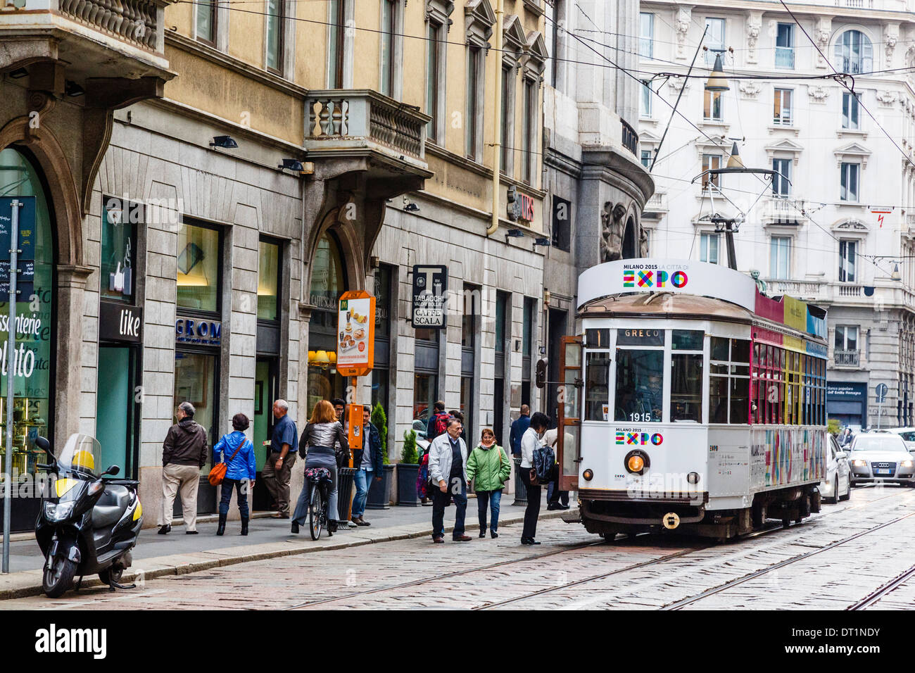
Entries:
{"label": "tram roof including white EXPO board and coloured side panels", "polygon": [[746,274],[690,259],[620,259],[592,266],[578,277],[578,311],[583,317],[666,314],[740,322],[756,315],[826,336],[824,309],[787,295],[766,297]]}

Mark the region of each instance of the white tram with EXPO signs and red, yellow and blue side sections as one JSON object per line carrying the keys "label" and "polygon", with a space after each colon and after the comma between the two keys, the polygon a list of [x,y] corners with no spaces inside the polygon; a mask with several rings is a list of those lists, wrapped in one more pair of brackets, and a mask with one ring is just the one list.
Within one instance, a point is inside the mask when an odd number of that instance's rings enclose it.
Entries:
{"label": "white tram with EXPO signs and red, yellow and blue side sections", "polygon": [[725,266],[629,259],[578,279],[557,461],[588,532],[725,540],[820,508],[826,312]]}

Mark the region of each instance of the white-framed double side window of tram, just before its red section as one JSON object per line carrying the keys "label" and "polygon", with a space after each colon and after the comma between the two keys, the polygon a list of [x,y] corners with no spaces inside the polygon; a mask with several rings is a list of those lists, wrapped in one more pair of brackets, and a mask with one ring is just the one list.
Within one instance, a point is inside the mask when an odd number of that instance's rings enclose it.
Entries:
{"label": "white-framed double side window of tram, just before its red section", "polygon": [[749,418],[749,342],[712,337],[708,422],[745,424]]}

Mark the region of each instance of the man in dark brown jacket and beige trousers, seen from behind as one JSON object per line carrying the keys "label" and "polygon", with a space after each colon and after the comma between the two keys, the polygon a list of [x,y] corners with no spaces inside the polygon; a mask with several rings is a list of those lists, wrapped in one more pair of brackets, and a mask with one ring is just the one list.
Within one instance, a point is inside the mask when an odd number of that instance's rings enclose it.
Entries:
{"label": "man in dark brown jacket and beige trousers, seen from behind", "polygon": [[178,405],[178,423],[162,444],[162,516],[159,535],[171,530],[175,494],[181,492],[185,533],[197,535],[197,488],[200,469],[207,464],[207,431],[194,420],[194,405]]}

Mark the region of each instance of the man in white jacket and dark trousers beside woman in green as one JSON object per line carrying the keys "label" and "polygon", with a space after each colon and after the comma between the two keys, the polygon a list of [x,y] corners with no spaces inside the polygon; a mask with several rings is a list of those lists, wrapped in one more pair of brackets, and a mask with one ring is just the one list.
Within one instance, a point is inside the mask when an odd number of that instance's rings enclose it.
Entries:
{"label": "man in white jacket and dark trousers beside woman in green", "polygon": [[461,439],[464,430],[461,422],[454,417],[447,420],[447,432],[442,433],[429,445],[429,481],[436,484],[432,492],[432,541],[445,542],[445,507],[454,498],[458,511],[455,513],[455,542],[469,542],[472,537],[464,535],[464,515],[467,513],[467,444]]}

